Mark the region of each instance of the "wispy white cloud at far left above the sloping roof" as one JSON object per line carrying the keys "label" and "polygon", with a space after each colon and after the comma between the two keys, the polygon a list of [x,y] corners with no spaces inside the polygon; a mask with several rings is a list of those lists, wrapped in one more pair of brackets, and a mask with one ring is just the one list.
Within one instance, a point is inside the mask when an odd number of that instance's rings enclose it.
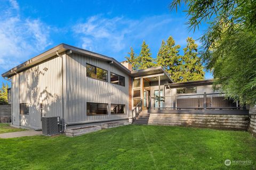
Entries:
{"label": "wispy white cloud at far left above the sloping roof", "polygon": [[51,44],[47,25],[38,19],[23,19],[14,0],[8,6],[0,12],[0,67],[5,70]]}

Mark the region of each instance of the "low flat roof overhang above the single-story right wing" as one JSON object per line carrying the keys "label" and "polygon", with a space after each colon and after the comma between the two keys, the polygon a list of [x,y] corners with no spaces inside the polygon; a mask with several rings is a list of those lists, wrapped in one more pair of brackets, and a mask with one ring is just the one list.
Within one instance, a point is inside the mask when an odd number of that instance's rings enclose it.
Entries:
{"label": "low flat roof overhang above the single-story right wing", "polygon": [[209,79],[209,80],[187,81],[187,82],[181,82],[181,83],[170,83],[170,84],[165,84],[165,86],[172,89],[172,88],[182,88],[182,87],[207,86],[207,85],[212,85],[213,82],[214,82],[214,79]]}

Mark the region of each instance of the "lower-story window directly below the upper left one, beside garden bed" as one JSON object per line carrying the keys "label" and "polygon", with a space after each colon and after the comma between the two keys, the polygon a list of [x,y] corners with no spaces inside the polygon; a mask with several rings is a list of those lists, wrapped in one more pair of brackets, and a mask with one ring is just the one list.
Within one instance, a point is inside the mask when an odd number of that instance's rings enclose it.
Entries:
{"label": "lower-story window directly below the upper left one, beside garden bed", "polygon": [[86,103],[87,105],[87,116],[93,115],[107,115],[108,104],[102,103]]}

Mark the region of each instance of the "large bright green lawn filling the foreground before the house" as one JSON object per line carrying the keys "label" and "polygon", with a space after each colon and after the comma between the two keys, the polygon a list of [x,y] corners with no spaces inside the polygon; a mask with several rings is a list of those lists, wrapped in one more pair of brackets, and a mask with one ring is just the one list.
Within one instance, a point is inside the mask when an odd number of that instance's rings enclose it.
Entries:
{"label": "large bright green lawn filling the foreground before the house", "polygon": [[[0,139],[0,153],[0,169],[256,169],[250,133],[171,126]],[[226,159],[252,164],[226,166]]]}

